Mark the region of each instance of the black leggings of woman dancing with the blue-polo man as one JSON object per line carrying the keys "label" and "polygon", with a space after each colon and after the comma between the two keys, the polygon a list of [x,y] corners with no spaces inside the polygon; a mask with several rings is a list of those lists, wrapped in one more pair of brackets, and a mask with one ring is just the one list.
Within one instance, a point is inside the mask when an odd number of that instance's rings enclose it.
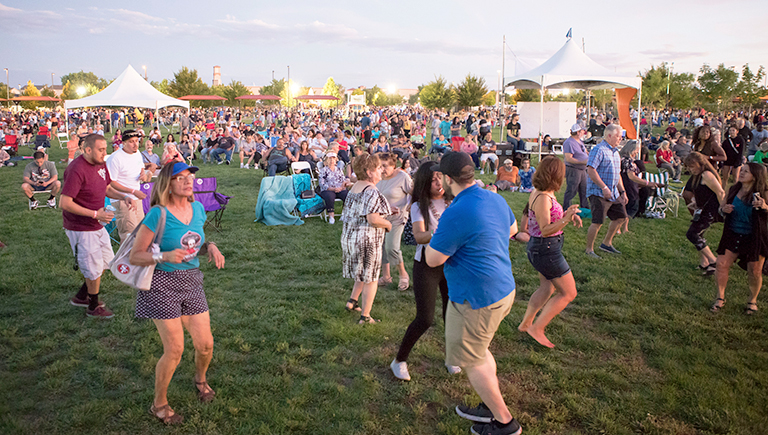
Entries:
{"label": "black leggings of woman dancing with the blue-polo man", "polygon": [[440,296],[443,298],[443,321],[445,321],[445,309],[448,307],[448,282],[443,274],[443,266],[427,266],[424,255],[422,255],[421,261],[414,260],[413,294],[416,298],[416,318],[405,331],[403,342],[400,343],[400,350],[397,352],[398,361],[402,362],[408,359],[413,346],[435,321],[438,288],[440,289]]}

